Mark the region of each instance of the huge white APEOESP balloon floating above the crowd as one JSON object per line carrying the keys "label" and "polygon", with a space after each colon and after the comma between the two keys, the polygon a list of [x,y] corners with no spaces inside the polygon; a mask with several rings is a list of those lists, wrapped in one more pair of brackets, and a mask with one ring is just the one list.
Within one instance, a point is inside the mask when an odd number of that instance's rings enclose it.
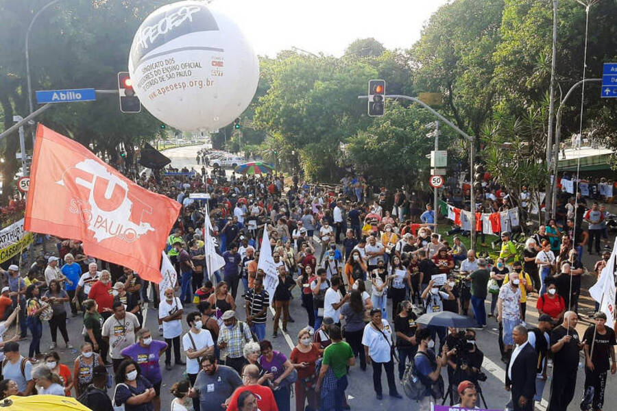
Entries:
{"label": "huge white APEOESP balloon floating above the crowd", "polygon": [[257,56],[239,27],[202,1],[168,4],[147,16],[128,66],[142,105],[185,131],[234,121],[259,79]]}

